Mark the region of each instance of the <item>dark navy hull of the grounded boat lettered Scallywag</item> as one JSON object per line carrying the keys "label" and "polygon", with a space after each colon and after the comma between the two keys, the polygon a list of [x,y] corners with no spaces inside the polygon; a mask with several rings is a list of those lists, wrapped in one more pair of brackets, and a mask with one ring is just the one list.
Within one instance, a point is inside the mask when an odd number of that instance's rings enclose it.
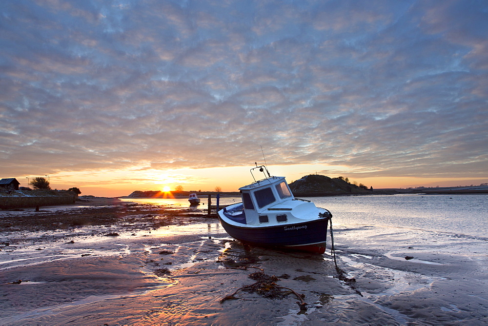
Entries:
{"label": "dark navy hull of the grounded boat lettered Scallywag", "polygon": [[250,245],[284,247],[323,254],[327,238],[328,219],[322,218],[298,224],[246,227],[227,223],[220,215],[225,231]]}

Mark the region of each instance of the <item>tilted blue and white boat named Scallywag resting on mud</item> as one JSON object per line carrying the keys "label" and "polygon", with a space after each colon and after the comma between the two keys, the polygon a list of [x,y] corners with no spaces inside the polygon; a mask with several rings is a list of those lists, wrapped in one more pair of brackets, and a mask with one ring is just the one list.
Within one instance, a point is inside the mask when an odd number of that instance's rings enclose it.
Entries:
{"label": "tilted blue and white boat named Scallywag resting on mud", "polygon": [[[255,169],[264,173],[264,179],[256,181]],[[264,165],[256,164],[251,175],[254,183],[239,188],[242,203],[219,211],[219,220],[225,231],[251,245],[323,254],[332,214],[310,201],[295,198],[285,177],[271,176]]]}

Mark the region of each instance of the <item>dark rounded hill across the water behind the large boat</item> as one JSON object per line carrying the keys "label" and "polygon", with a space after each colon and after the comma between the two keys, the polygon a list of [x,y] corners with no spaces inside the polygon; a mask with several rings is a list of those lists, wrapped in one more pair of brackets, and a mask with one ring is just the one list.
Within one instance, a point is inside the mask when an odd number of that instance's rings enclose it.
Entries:
{"label": "dark rounded hill across the water behind the large boat", "polygon": [[332,196],[346,194],[371,194],[372,191],[362,189],[355,184],[340,178],[329,178],[323,175],[310,174],[289,184],[297,197]]}

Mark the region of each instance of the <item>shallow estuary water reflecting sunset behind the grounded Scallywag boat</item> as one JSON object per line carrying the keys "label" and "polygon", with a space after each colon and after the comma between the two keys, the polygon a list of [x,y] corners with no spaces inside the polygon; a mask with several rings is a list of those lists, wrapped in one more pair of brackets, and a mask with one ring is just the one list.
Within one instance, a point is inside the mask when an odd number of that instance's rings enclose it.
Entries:
{"label": "shallow estuary water reflecting sunset behind the grounded Scallywag boat", "polygon": [[[415,228],[487,236],[488,195],[374,195],[307,197],[332,212],[333,223]],[[187,199],[123,199],[141,204],[189,207]],[[223,197],[221,205],[241,202]],[[212,198],[212,205],[216,199]],[[206,198],[195,209],[206,210]]]}

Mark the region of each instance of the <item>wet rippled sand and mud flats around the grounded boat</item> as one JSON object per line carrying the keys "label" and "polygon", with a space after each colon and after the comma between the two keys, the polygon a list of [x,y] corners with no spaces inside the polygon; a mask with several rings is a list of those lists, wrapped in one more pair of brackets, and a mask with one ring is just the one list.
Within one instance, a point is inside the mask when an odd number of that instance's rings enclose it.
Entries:
{"label": "wet rippled sand and mud flats around the grounded boat", "polygon": [[340,278],[330,251],[246,246],[190,208],[93,199],[0,221],[1,325],[488,323],[487,238],[338,225]]}

